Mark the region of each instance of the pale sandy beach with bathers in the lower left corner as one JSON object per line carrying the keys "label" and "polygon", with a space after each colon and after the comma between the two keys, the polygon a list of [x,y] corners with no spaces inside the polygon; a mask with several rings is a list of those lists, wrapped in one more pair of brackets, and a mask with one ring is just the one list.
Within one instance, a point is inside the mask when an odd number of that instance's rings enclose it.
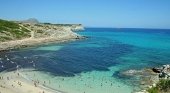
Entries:
{"label": "pale sandy beach with bathers in the lower left corner", "polygon": [[19,71],[1,72],[0,93],[62,93],[45,87],[44,82],[30,80]]}

